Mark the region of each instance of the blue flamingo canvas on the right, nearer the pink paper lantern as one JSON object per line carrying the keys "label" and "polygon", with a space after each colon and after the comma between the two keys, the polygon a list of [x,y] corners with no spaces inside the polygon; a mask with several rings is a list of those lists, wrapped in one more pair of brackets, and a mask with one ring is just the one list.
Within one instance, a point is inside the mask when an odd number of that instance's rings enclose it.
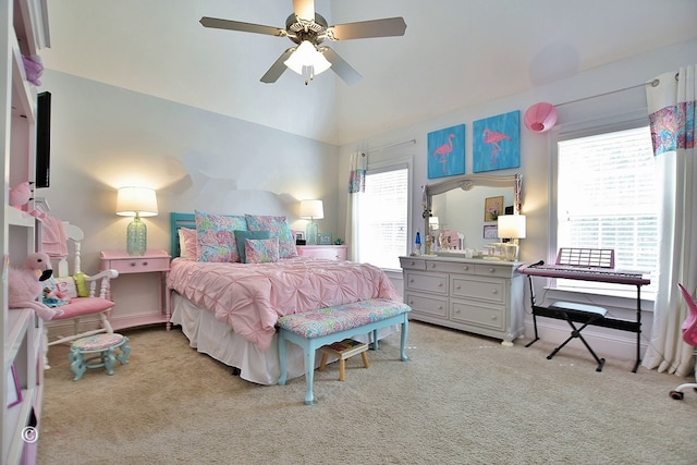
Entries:
{"label": "blue flamingo canvas on the right, nearer the pink paper lantern", "polygon": [[475,121],[472,125],[472,171],[505,170],[521,166],[521,112]]}

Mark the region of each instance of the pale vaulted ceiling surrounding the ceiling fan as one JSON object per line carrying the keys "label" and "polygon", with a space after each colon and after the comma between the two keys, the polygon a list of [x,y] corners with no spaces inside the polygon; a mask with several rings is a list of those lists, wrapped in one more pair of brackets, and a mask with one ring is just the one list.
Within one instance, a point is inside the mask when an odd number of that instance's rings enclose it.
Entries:
{"label": "pale vaulted ceiling surrounding the ceiling fan", "polygon": [[[363,79],[259,78],[288,38],[203,27],[201,16],[283,28],[291,0],[48,3],[47,69],[331,144],[697,38],[695,0],[316,0],[329,24],[403,16],[403,37],[332,42]],[[687,63],[686,63],[687,64]]]}

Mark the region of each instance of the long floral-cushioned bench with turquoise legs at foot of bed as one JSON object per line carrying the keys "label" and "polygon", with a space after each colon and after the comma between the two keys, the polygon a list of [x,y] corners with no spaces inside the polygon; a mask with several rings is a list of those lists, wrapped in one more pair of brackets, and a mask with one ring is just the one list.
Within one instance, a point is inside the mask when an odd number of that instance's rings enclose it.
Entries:
{"label": "long floral-cushioned bench with turquoise legs at foot of bed", "polygon": [[400,358],[406,360],[408,313],[412,308],[399,302],[370,298],[353,304],[337,305],[279,318],[279,384],[288,377],[286,341],[303,347],[305,357],[305,404],[311,405],[315,375],[315,352],[322,345],[343,341],[357,334],[372,333],[372,348],[378,350],[378,330],[393,325],[402,326]]}

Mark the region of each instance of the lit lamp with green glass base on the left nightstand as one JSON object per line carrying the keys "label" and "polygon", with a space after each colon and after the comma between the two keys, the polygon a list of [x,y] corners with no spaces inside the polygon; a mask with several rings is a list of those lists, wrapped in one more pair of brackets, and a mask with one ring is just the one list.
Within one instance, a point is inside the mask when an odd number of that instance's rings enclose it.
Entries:
{"label": "lit lamp with green glass base on the left nightstand", "polygon": [[143,256],[147,249],[148,230],[140,217],[157,215],[155,189],[148,187],[121,187],[117,195],[117,215],[134,217],[126,229],[126,252]]}

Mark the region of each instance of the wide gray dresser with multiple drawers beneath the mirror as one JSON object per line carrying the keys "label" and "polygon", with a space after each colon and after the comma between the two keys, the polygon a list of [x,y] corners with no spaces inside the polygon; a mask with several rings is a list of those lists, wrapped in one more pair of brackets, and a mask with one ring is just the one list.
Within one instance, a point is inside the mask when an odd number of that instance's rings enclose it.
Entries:
{"label": "wide gray dresser with multiple drawers beneath the mirror", "polygon": [[522,262],[400,257],[409,319],[502,340],[523,334]]}

